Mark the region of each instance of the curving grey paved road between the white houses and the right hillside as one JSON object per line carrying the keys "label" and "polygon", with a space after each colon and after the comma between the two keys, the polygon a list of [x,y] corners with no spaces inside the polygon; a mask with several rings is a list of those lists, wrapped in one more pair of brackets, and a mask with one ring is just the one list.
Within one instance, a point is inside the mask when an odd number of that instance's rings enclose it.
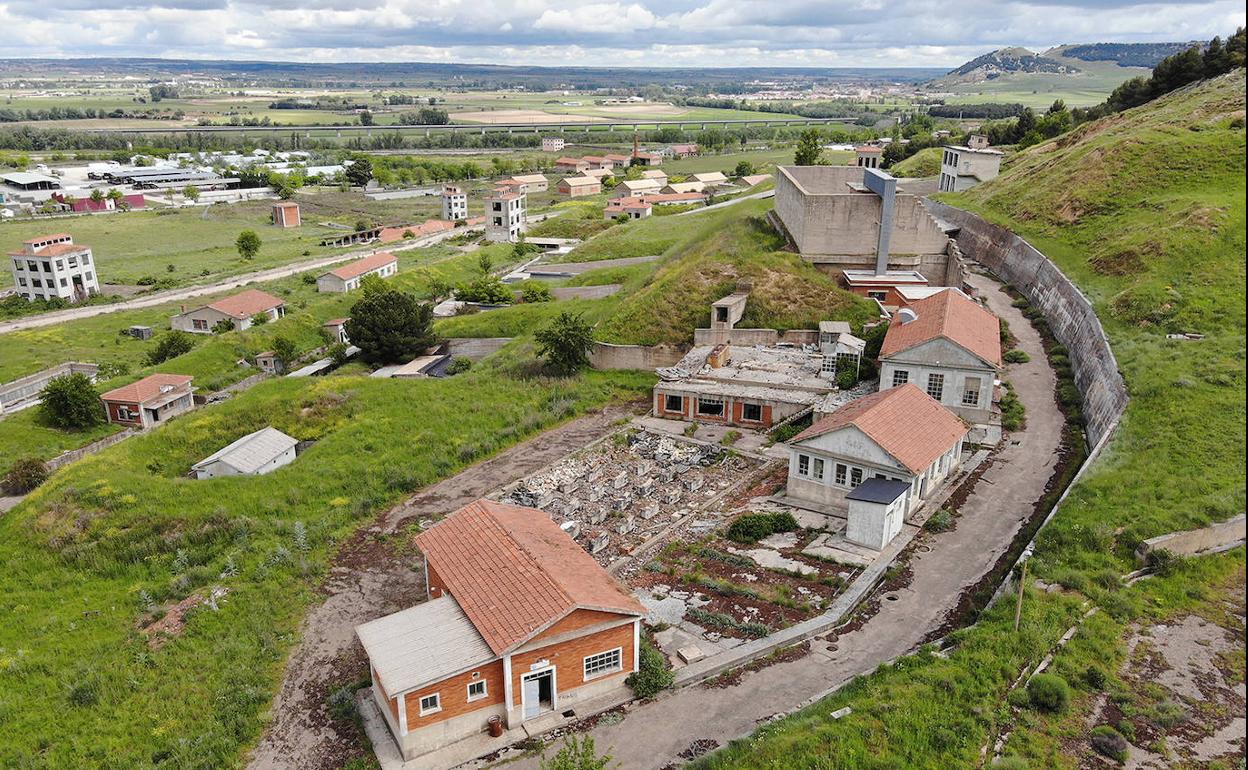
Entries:
{"label": "curving grey paved road between the white houses and the right hillside", "polygon": [[[787,711],[830,688],[902,655],[940,628],[965,588],[987,573],[1008,547],[1021,523],[1045,493],[1057,459],[1062,414],[1053,399],[1053,373],[1040,336],[1010,306],[998,285],[981,276],[992,312],[1006,318],[1031,362],[1007,367],[1027,408],[1027,429],[1007,438],[975,490],[961,505],[956,528],[925,540],[930,553],[916,553],[910,588],[881,608],[860,629],[829,643],[812,641],[812,653],[791,663],[748,674],[736,686],[691,686],[655,701],[635,705],[626,719],[588,734],[599,750],[609,750],[622,768],[658,770],[681,763],[676,755],[699,739],[725,745],[754,731],[761,720]],[[1017,442],[1017,443],[1015,443]],[[508,764],[508,770],[534,770],[535,758]]]}

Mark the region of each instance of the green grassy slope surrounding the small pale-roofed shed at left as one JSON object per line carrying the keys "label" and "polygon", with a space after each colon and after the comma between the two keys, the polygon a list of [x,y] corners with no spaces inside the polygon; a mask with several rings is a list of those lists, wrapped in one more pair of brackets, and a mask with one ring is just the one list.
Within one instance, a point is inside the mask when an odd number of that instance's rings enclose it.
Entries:
{"label": "green grassy slope surrounding the small pale-roofed shed at left", "polygon": [[[441,381],[268,381],[75,463],[0,517],[0,766],[241,766],[337,543],[412,490],[650,384],[538,377],[523,349],[492,361]],[[265,477],[185,478],[266,424],[316,444]],[[212,587],[228,590],[220,612],[196,605],[149,644],[141,624]]]}

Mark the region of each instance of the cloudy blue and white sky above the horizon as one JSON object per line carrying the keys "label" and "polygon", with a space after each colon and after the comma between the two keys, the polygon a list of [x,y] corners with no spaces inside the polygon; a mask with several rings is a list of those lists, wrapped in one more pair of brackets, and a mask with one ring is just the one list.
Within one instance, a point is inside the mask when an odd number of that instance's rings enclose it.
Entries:
{"label": "cloudy blue and white sky above the horizon", "polygon": [[0,57],[956,66],[1243,24],[1243,0],[0,0]]}

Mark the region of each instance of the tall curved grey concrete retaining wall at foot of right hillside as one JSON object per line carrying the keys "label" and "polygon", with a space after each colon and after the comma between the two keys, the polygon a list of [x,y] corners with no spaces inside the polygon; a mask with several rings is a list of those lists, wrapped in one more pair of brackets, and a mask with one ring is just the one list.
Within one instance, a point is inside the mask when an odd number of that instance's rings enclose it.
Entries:
{"label": "tall curved grey concrete retaining wall at foot of right hillside", "polygon": [[1045,313],[1053,337],[1070,351],[1088,442],[1099,444],[1127,408],[1127,386],[1092,303],[1048,257],[1008,230],[952,206],[935,201],[926,201],[926,206],[960,228],[956,240],[963,255],[1012,285]]}

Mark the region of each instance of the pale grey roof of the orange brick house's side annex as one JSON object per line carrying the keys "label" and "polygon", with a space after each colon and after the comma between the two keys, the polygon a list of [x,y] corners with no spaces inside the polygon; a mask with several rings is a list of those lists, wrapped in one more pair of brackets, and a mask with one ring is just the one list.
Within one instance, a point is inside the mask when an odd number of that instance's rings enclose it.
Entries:
{"label": "pale grey roof of the orange brick house's side annex", "polygon": [[449,595],[357,625],[356,635],[392,696],[497,658]]}

